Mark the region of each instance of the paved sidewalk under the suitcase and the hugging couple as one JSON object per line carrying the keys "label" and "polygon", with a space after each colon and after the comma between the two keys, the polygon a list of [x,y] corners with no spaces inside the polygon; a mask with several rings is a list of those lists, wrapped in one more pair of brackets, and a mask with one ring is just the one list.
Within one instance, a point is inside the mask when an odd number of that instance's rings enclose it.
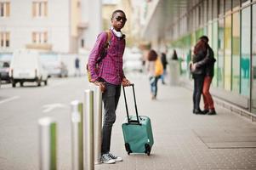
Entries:
{"label": "paved sidewalk under the suitcase and the hugging couple", "polygon": [[[129,77],[129,76],[127,76]],[[116,164],[100,169],[256,169],[256,126],[216,105],[216,116],[192,114],[192,92],[159,84],[157,100],[151,100],[147,77],[130,77],[135,83],[139,115],[151,117],[155,144],[151,156],[128,156],[122,137],[126,116],[123,95],[112,131],[111,151],[122,156]],[[134,112],[131,89],[129,111]]]}

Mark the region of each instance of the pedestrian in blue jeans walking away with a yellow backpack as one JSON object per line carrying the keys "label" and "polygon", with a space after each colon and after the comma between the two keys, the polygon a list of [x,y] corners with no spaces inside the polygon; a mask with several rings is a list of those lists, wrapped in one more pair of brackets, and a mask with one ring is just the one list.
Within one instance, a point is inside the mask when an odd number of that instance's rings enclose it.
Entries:
{"label": "pedestrian in blue jeans walking away with a yellow backpack", "polygon": [[146,69],[148,71],[148,76],[150,79],[151,85],[151,99],[156,99],[157,95],[157,82],[161,77],[163,68],[160,59],[158,59],[156,51],[151,49],[147,61],[146,61]]}

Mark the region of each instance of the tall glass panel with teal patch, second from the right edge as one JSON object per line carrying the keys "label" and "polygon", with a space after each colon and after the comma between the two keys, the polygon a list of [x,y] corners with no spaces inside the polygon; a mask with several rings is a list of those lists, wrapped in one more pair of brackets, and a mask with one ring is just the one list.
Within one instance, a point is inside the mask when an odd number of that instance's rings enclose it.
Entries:
{"label": "tall glass panel with teal patch, second from the right edge", "polygon": [[250,43],[251,8],[242,10],[241,30],[241,94],[249,97],[250,92]]}

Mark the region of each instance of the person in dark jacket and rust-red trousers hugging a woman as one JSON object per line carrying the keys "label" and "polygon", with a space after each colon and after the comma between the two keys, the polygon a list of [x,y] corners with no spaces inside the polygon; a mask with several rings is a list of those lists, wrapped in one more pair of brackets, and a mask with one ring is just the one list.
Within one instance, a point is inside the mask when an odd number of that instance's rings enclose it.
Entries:
{"label": "person in dark jacket and rust-red trousers hugging a woman", "polygon": [[209,92],[211,82],[214,76],[214,63],[216,59],[214,59],[213,49],[208,45],[208,37],[202,36],[200,39],[207,43],[207,55],[204,59],[195,63],[196,69],[204,68],[205,69],[205,77],[203,81],[202,88],[202,97],[204,103],[204,114],[208,115],[216,115],[216,111],[214,108],[213,98]]}

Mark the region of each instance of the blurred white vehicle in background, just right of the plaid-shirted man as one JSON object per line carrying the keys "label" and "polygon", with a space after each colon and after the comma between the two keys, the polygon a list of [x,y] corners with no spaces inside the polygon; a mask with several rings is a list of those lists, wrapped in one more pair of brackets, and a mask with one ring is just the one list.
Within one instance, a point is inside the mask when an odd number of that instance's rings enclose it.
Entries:
{"label": "blurred white vehicle in background, just right of the plaid-shirted man", "polygon": [[127,48],[123,54],[124,71],[143,71],[142,54],[139,50]]}

